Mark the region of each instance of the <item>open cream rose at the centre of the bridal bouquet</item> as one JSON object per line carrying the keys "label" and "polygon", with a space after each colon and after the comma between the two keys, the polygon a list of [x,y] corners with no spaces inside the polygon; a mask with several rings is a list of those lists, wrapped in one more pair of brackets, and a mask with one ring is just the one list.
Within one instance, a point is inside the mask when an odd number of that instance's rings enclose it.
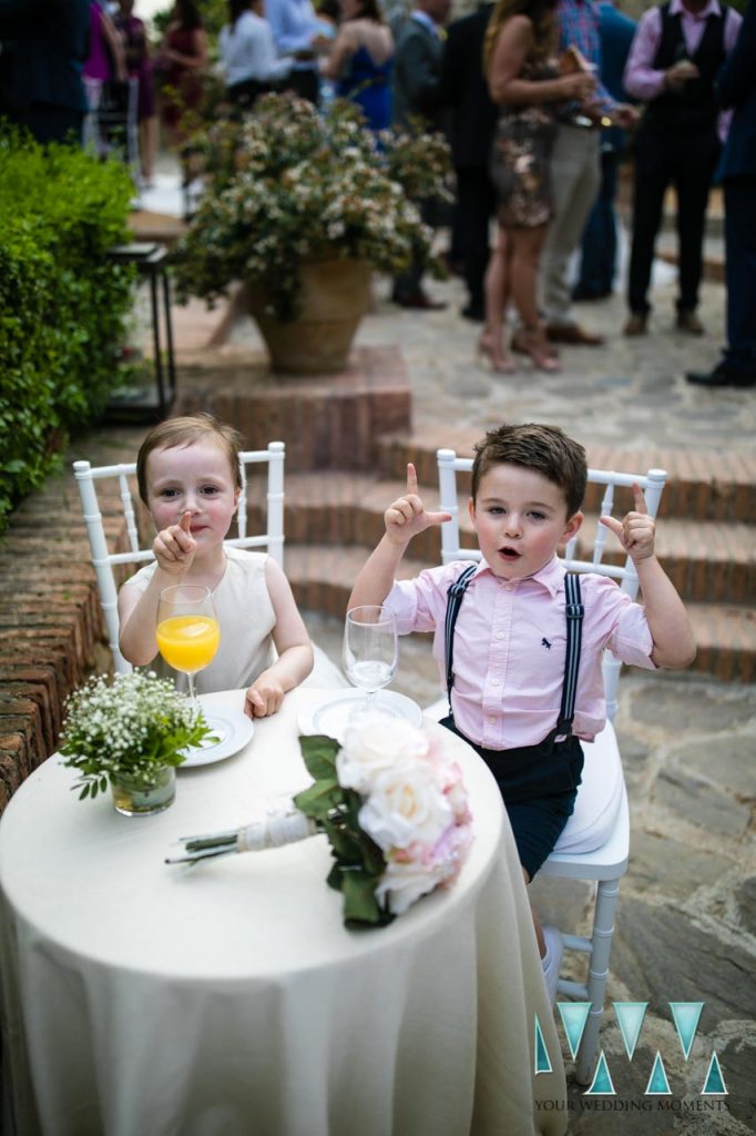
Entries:
{"label": "open cream rose at the centre of the bridal bouquet", "polygon": [[412,843],[432,846],[454,817],[432,766],[418,758],[373,777],[359,819],[360,827],[387,852]]}

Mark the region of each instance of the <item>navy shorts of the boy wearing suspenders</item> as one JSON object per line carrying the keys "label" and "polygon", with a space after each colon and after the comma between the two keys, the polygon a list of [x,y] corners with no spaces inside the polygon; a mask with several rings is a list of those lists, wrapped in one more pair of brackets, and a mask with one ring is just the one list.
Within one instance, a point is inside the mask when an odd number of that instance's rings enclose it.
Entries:
{"label": "navy shorts of the boy wearing suspenders", "polygon": [[519,750],[487,750],[476,745],[454,725],[442,720],[480,754],[490,769],[506,805],[520,863],[530,878],[554,851],[572,816],[582,772],[582,746],[577,737],[555,742],[551,753],[538,745]]}

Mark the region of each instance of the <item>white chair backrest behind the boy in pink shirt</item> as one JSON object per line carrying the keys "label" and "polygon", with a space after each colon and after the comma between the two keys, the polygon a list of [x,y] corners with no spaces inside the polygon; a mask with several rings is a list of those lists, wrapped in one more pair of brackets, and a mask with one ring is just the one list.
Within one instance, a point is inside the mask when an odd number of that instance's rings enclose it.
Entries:
{"label": "white chair backrest behind the boy in pink shirt", "polygon": [[[454,450],[437,450],[438,459],[438,488],[440,494],[439,508],[444,512],[450,512],[452,519],[442,525],[442,561],[450,563],[452,560],[480,560],[478,549],[462,549],[460,540],[460,504],[456,487],[456,475],[470,473],[472,470],[472,458],[459,458]],[[614,508],[615,486],[632,486],[637,483],[644,491],[646,508],[652,517],[658,512],[662,490],[666,483],[666,470],[649,469],[646,474],[618,474],[608,469],[589,469],[588,484],[603,485],[604,493],[600,509],[597,516],[611,516]],[[616,579],[623,592],[627,592],[631,600],[638,595],[638,574],[630,557],[624,563],[604,563],[604,551],[606,537],[614,541],[604,525],[596,524],[593,551],[590,560],[580,560],[576,556],[578,538],[580,534],[572,537],[564,550],[562,563],[569,571],[593,571],[600,576],[611,576]],[[618,545],[619,546],[619,545]],[[611,721],[616,713],[616,688],[620,682],[620,670],[622,663],[615,659],[611,651],[604,652],[604,692],[606,695],[606,713]]]}

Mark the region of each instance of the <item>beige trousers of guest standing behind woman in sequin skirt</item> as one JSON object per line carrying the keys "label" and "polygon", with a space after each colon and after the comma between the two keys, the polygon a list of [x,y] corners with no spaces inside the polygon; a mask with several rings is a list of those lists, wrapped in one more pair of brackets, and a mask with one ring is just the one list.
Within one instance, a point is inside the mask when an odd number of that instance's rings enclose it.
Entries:
{"label": "beige trousers of guest standing behind woman in sequin skirt", "polygon": [[598,194],[600,131],[560,124],[552,151],[554,217],[540,257],[540,309],[549,324],[571,324],[570,257]]}

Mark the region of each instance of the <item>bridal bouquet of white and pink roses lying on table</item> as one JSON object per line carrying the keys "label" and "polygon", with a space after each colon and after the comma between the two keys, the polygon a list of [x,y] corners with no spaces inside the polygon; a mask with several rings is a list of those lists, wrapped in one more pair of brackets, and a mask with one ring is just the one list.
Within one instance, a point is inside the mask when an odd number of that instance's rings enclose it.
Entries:
{"label": "bridal bouquet of white and pink roses lying on table", "polygon": [[238,832],[184,841],[191,862],[254,851],[322,832],[334,858],[328,884],[344,896],[346,926],[384,926],[437,886],[450,886],[472,832],[460,767],[436,737],[376,712],[333,737],[301,737],[313,784],[294,809]]}

